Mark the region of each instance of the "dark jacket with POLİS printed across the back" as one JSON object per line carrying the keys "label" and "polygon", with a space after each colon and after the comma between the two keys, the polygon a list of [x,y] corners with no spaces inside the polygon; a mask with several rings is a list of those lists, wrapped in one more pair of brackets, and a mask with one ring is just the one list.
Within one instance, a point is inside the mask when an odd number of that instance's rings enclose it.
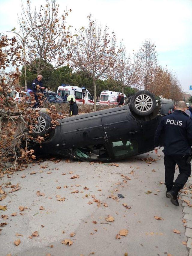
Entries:
{"label": "dark jacket with POL\u0130S printed across the back", "polygon": [[155,132],[155,147],[164,146],[166,155],[191,154],[192,146],[192,119],[181,110],[162,118]]}

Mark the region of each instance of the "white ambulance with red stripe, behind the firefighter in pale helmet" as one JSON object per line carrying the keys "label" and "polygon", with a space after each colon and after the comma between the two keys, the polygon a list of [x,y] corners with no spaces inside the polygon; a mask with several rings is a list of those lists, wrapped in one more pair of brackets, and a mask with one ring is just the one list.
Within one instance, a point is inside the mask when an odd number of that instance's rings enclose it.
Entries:
{"label": "white ambulance with red stripe, behind the firefighter in pale helmet", "polygon": [[93,97],[90,92],[84,87],[80,88],[78,86],[72,85],[61,85],[57,89],[57,94],[62,98],[68,93],[69,95],[73,95],[75,97],[75,101],[77,104],[91,104],[94,105]]}

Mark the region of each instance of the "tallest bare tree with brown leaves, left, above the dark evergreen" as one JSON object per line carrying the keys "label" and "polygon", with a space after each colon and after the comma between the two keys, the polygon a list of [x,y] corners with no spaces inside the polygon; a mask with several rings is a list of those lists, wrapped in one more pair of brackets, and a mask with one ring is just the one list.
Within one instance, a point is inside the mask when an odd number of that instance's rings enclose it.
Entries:
{"label": "tallest bare tree with brown leaves, left, above the dark evergreen", "polygon": [[66,10],[59,16],[58,8],[56,0],[46,0],[45,7],[41,5],[39,11],[32,10],[29,0],[26,10],[22,4],[19,34],[22,34],[21,41],[26,46],[24,62],[32,65],[38,74],[49,69],[49,64],[54,68],[60,67],[67,58],[65,49],[70,41],[69,31],[66,28],[68,12]]}

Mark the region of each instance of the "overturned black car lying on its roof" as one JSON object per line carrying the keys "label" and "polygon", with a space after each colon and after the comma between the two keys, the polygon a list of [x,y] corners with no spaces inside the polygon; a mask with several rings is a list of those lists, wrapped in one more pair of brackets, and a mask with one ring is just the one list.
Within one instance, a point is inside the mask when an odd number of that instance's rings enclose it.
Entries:
{"label": "overturned black car lying on its roof", "polygon": [[138,91],[125,106],[59,119],[39,113],[33,136],[49,133],[41,148],[34,140],[36,156],[59,154],[80,161],[114,161],[154,149],[154,135],[161,118],[173,109],[171,100],[156,100],[149,91]]}

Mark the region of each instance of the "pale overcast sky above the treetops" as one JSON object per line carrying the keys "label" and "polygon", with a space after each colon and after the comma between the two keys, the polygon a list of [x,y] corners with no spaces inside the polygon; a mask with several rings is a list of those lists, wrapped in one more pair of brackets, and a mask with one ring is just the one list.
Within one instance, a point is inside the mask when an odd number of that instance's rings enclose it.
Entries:
{"label": "pale overcast sky above the treetops", "polygon": [[[26,1],[24,0],[23,3]],[[58,0],[60,9],[72,9],[67,24],[79,28],[88,24],[91,13],[123,39],[127,52],[137,51],[145,39],[156,44],[162,67],[176,73],[184,91],[192,85],[192,0]],[[14,27],[20,0],[0,0],[0,32]],[[38,9],[44,0],[33,0]],[[192,92],[192,91],[191,91]]]}

